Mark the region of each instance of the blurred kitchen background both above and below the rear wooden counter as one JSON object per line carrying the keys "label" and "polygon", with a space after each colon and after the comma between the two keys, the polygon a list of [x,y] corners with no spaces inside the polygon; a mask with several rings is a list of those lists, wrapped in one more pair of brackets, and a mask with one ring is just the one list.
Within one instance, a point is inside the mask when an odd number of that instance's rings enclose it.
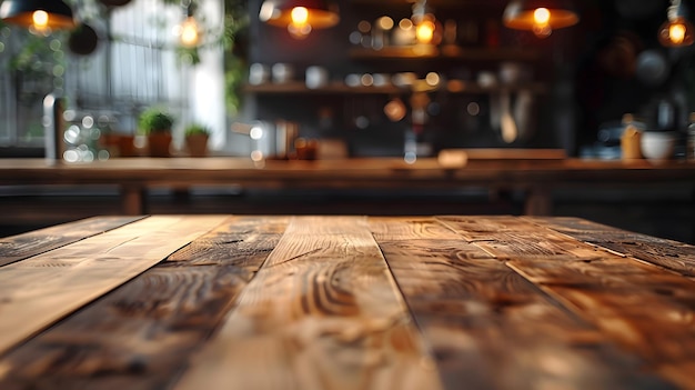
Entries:
{"label": "blurred kitchen background both above and below the rear wooden counter", "polygon": [[[69,156],[85,162],[141,156],[109,140],[134,137],[141,147],[138,118],[151,107],[174,116],[174,156],[187,156],[187,126],[202,123],[211,131],[209,154],[250,158],[284,158],[276,140],[301,137],[318,144],[318,158],[556,148],[614,160],[632,114],[643,129],[676,132],[674,158],[683,159],[695,111],[694,46],[658,39],[668,10],[692,20],[695,0],[574,0],[577,23],[538,33],[504,24],[512,0],[339,0],[338,22],[310,31],[275,26],[261,0],[66,2],[79,24],[70,32],[0,22],[0,157],[44,154],[49,93],[64,97]],[[433,29],[419,34],[417,17]],[[692,39],[689,30],[683,38]],[[554,213],[691,241],[692,186],[647,184],[638,192],[557,191]],[[522,212],[514,193],[497,206],[486,191],[283,191],[281,200],[215,191],[220,203],[198,211]],[[4,233],[68,214],[119,212],[111,201],[93,202],[118,197],[112,188],[85,194],[9,186],[0,196],[18,216]],[[181,199],[195,211],[191,198]],[[464,208],[462,199],[484,206]],[[152,212],[180,206],[175,191],[167,192]],[[47,217],[61,208],[73,212]]]}

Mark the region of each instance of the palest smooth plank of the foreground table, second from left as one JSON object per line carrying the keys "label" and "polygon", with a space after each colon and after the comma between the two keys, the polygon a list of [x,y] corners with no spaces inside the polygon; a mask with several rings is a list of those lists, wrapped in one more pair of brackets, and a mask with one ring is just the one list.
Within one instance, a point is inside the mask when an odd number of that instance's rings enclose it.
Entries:
{"label": "palest smooth plank of the foreground table, second from left", "polygon": [[2,268],[0,354],[157,264],[224,220],[161,216]]}

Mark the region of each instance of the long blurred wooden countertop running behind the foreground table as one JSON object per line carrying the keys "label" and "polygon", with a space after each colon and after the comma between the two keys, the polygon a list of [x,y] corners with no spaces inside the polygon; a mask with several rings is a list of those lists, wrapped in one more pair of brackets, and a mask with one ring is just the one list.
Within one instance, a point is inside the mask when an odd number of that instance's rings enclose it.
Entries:
{"label": "long blurred wooden countertop running behind the foreground table", "polygon": [[379,188],[394,186],[534,184],[576,182],[695,182],[695,163],[646,160],[473,159],[461,168],[435,158],[407,164],[399,158],[273,161],[246,158],[131,158],[51,166],[43,159],[0,159],[2,184],[194,184]]}

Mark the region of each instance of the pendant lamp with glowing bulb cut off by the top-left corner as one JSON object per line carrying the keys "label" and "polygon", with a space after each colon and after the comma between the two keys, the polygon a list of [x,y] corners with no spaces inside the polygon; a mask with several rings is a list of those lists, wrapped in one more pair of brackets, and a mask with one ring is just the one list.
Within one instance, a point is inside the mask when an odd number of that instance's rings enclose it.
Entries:
{"label": "pendant lamp with glowing bulb cut off by the top-left corner", "polygon": [[22,27],[69,30],[74,28],[72,9],[62,0],[4,0],[0,4],[2,21]]}

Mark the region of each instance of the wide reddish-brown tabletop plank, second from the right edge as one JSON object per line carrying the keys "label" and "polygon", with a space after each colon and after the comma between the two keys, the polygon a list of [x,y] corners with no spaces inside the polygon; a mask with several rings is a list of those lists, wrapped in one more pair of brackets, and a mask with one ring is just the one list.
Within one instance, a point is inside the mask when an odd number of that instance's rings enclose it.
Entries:
{"label": "wide reddish-brown tabletop plank, second from the right edge", "polygon": [[475,244],[506,259],[508,267],[647,362],[649,371],[695,388],[688,377],[695,361],[695,282],[632,258],[586,251],[583,247],[590,244],[548,233],[542,221],[520,219],[514,229],[504,223],[507,230],[493,234],[493,241]]}

